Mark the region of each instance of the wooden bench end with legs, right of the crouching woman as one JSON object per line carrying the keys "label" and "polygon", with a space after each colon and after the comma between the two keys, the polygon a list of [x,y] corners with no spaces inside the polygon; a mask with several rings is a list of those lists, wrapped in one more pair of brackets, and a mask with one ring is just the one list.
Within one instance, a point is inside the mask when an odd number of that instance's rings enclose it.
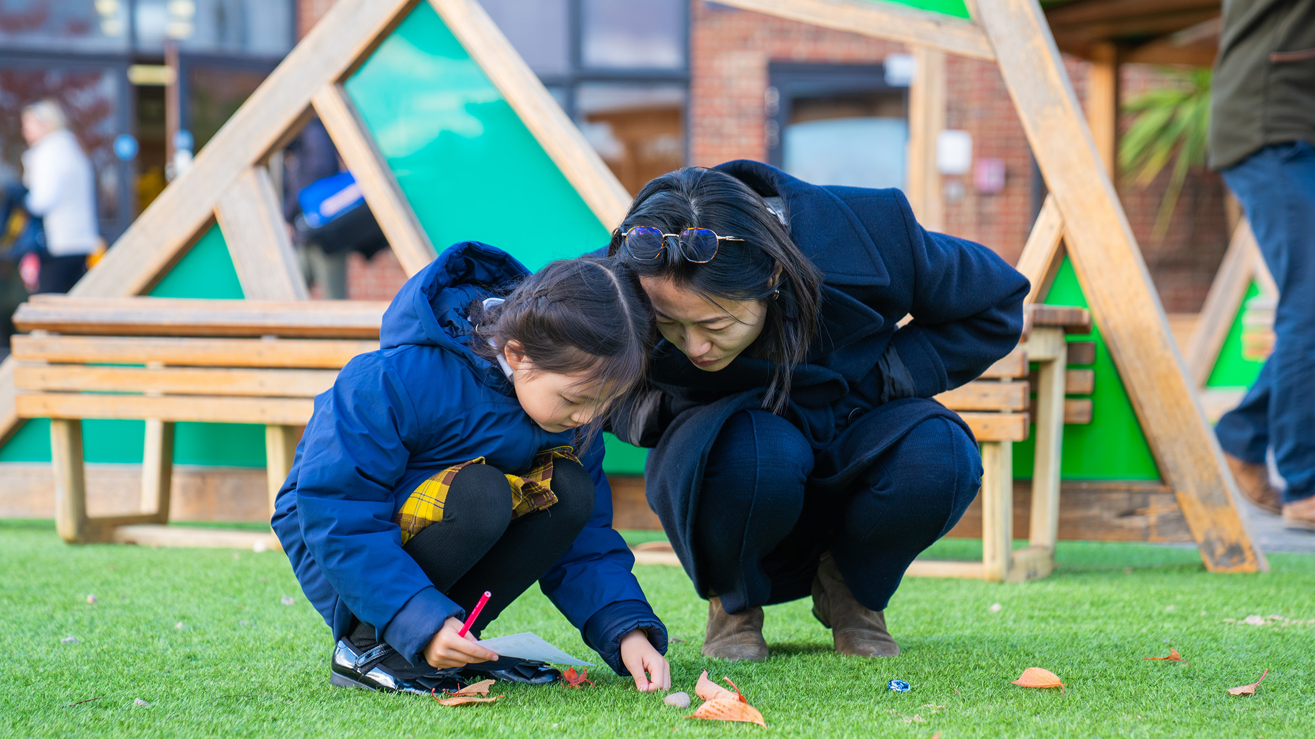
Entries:
{"label": "wooden bench end with legs, right of the crouching woman", "polygon": [[[1089,334],[1091,317],[1082,308],[1030,305],[1018,347],[977,380],[936,396],[973,430],[982,451],[982,561],[914,560],[907,575],[918,577],[976,577],[1022,583],[1055,569],[1059,534],[1060,460],[1065,423],[1090,423],[1091,401],[1066,400],[1089,394],[1090,370],[1068,370],[1070,345],[1065,334]],[[1094,362],[1094,345],[1078,351],[1082,364]],[[1028,371],[1038,364],[1035,373]],[[1031,402],[1035,388],[1036,401]],[[1028,410],[1034,413],[1028,413]],[[1014,442],[1027,439],[1035,419],[1032,515],[1028,546],[1013,548]]]}

